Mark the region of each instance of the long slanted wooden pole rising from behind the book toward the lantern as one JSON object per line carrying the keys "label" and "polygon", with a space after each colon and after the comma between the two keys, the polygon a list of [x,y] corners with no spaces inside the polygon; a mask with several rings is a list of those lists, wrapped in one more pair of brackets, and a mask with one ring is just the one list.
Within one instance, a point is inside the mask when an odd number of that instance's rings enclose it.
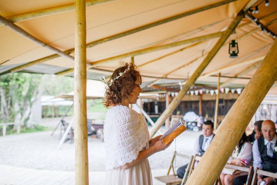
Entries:
{"label": "long slanted wooden pole rising from behind the book toward the lantern", "polygon": [[169,117],[169,115],[174,111],[174,109],[179,105],[183,97],[186,95],[186,92],[190,89],[190,87],[195,83],[196,79],[200,76],[200,74],[204,71],[207,65],[214,58],[216,53],[222,47],[227,38],[234,32],[235,28],[239,24],[239,22],[244,17],[244,12],[240,11],[237,17],[232,21],[229,27],[224,31],[224,34],[219,38],[216,42],[216,45],[209,52],[207,57],[203,60],[203,62],[198,66],[198,68],[194,71],[190,79],[186,82],[183,88],[179,91],[178,95],[171,101],[169,107],[162,113],[159,119],[156,121],[155,126],[152,127],[150,131],[150,137],[153,137],[157,130],[162,126],[164,121]]}

